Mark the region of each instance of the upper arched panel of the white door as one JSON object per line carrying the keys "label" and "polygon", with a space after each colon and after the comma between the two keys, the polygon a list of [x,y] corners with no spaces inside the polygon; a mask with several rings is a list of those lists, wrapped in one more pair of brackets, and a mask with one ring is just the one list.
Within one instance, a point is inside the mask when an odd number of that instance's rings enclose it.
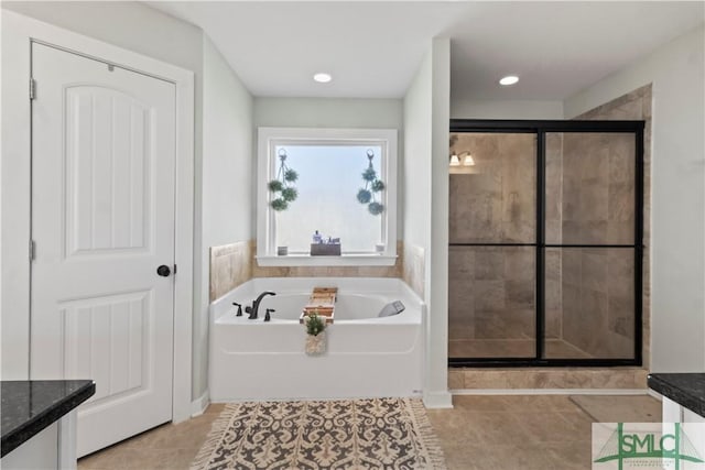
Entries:
{"label": "upper arched panel of the white door", "polygon": [[68,88],[66,105],[67,252],[148,248],[149,107],[93,86]]}

